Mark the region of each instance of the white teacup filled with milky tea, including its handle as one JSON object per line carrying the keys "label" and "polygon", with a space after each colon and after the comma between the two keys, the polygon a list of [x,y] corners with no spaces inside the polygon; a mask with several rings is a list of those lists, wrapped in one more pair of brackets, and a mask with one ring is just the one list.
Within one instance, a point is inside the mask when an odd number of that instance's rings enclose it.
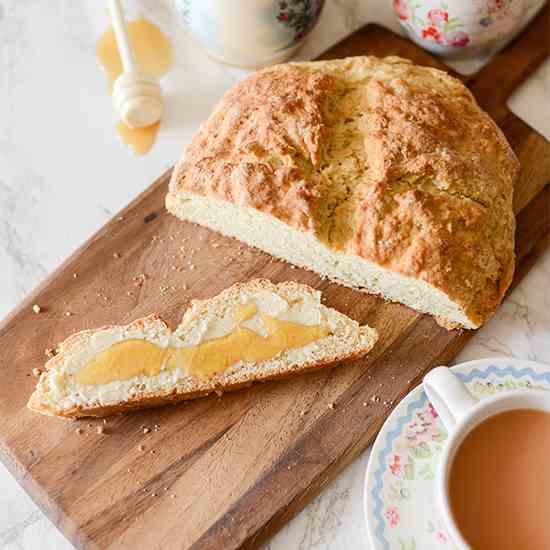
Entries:
{"label": "white teacup filled with milky tea, including its handle", "polygon": [[512,390],[478,402],[446,367],[424,390],[449,431],[438,508],[461,549],[550,548],[550,393]]}

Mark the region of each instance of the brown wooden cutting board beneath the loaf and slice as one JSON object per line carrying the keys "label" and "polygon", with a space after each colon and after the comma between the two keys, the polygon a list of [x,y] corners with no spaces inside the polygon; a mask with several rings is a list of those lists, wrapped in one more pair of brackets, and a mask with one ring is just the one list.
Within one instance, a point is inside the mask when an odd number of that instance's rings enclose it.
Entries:
{"label": "brown wooden cutting board beneath the loaf and slice", "polygon": [[[550,190],[543,189],[550,180],[550,144],[511,114],[505,99],[548,56],[547,29],[546,9],[514,44],[465,79],[523,167],[515,193],[514,284],[550,243]],[[375,25],[323,58],[360,54],[397,54],[443,67]],[[472,336],[178,221],[163,207],[169,175],[85,243],[0,327],[1,458],[79,548],[258,546],[372,442],[393,406],[430,368],[449,362]],[[97,433],[101,421],[72,423],[26,409],[36,382],[32,369],[68,334],[151,312],[175,325],[191,297],[206,298],[252,277],[322,289],[327,305],[375,326],[379,344],[368,359],[346,367],[111,418],[104,435]],[[43,312],[33,313],[34,303]],[[144,434],[143,426],[151,432]]]}

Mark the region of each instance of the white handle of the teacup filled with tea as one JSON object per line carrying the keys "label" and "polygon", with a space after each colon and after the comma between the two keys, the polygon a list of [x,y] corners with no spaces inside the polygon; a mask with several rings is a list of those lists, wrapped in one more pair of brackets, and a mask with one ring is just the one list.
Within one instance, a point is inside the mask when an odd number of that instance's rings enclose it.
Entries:
{"label": "white handle of the teacup filled with tea", "polygon": [[477,403],[468,388],[447,367],[437,367],[429,372],[423,385],[448,431]]}

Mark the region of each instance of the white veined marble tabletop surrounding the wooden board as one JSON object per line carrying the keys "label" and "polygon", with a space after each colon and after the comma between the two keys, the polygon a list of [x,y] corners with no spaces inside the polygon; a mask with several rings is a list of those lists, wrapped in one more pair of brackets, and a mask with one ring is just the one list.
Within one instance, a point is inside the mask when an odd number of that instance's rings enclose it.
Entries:
{"label": "white veined marble tabletop surrounding the wooden board", "polygon": [[[135,2],[173,40],[166,123],[145,157],[117,141],[95,60],[107,24],[101,2],[0,0],[0,317],[113,213],[168,168],[224,90],[243,76],[210,61],[165,0]],[[367,21],[396,28],[389,0],[328,0],[301,51],[311,58]],[[550,138],[550,62],[511,99]],[[457,360],[508,355],[550,364],[550,251]],[[368,548],[365,452],[266,546]],[[71,545],[0,466],[0,548]]]}

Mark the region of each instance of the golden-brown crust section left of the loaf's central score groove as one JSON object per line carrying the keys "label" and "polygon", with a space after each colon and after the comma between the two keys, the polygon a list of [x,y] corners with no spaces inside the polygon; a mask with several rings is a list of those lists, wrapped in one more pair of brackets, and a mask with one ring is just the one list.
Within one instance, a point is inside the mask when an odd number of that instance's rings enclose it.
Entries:
{"label": "golden-brown crust section left of the loaf's central score groove", "polygon": [[175,182],[185,177],[190,192],[252,206],[310,229],[315,189],[305,175],[320,161],[321,107],[330,80],[292,65],[245,79],[202,125],[187,160],[175,168],[171,188],[179,188]]}

